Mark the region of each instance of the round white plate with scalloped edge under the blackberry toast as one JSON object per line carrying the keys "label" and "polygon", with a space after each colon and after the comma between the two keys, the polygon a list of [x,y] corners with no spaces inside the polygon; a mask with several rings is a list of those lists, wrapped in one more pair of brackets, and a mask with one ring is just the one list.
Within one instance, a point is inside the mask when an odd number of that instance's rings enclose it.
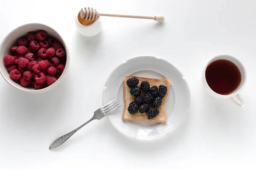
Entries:
{"label": "round white plate with scalloped edge under the blackberry toast", "polygon": [[[166,102],[166,123],[122,121],[123,79],[128,75],[169,79],[171,87]],[[110,74],[103,90],[103,105],[116,98],[122,106],[108,115],[111,124],[123,136],[140,142],[157,141],[174,133],[185,121],[190,105],[189,86],[181,72],[165,59],[153,56],[128,59]]]}

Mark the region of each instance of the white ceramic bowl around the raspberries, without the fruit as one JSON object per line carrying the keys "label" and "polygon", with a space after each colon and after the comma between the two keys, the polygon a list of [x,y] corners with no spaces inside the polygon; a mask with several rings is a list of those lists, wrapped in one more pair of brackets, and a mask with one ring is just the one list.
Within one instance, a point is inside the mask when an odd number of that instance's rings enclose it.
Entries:
{"label": "white ceramic bowl around the raspberries, without the fruit", "polygon": [[[38,31],[38,30],[47,31],[48,35],[55,37],[57,40],[59,40],[64,45],[64,48],[66,50],[66,55],[67,55],[67,61],[66,61],[65,69],[64,69],[63,73],[61,74],[61,77],[59,77],[55,83],[48,86],[47,88],[36,90],[34,88],[24,88],[17,82],[13,81],[10,78],[8,71],[6,70],[5,65],[3,64],[3,57],[5,55],[10,54],[10,48],[15,44],[15,42],[17,42],[17,39],[19,37],[25,36],[29,31]],[[66,43],[64,42],[64,40],[61,38],[61,36],[58,34],[57,31],[55,31],[53,28],[46,26],[44,24],[30,23],[30,24],[26,24],[23,26],[19,26],[19,27],[15,28],[14,30],[12,30],[8,35],[6,35],[6,37],[3,39],[3,41],[1,42],[1,45],[0,45],[0,73],[2,74],[2,76],[6,80],[6,82],[8,82],[10,85],[12,85],[13,87],[15,87],[21,91],[25,91],[25,92],[29,92],[29,93],[42,93],[45,91],[49,91],[52,88],[55,88],[63,80],[63,77],[65,76],[65,74],[68,70],[69,64],[70,64],[70,54],[69,54]]]}

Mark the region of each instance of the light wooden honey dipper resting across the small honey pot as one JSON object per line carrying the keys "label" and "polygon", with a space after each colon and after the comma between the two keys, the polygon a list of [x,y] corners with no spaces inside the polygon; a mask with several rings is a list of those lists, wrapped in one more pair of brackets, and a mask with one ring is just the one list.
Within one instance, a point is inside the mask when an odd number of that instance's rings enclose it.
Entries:
{"label": "light wooden honey dipper resting across the small honey pot", "polygon": [[148,16],[138,16],[138,15],[102,14],[102,13],[98,13],[96,9],[89,8],[89,7],[81,8],[80,16],[81,18],[84,18],[84,20],[95,20],[99,16],[105,16],[105,17],[139,18],[139,19],[155,20],[159,22],[164,21],[164,16],[162,15],[148,17]]}

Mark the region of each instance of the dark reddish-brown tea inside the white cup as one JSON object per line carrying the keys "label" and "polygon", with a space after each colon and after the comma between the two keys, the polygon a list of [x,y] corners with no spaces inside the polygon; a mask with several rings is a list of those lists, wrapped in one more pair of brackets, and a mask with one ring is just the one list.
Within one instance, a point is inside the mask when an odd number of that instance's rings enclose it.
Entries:
{"label": "dark reddish-brown tea inside the white cup", "polygon": [[212,91],[222,95],[232,93],[241,83],[239,68],[226,59],[210,63],[206,68],[205,78]]}

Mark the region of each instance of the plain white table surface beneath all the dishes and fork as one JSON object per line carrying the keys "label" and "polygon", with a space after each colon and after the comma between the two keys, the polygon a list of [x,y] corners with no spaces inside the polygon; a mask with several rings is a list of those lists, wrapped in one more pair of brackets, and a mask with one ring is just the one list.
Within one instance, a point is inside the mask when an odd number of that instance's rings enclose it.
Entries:
{"label": "plain white table surface beneath all the dishes and fork", "polygon": [[[70,69],[58,88],[27,94],[0,77],[0,169],[254,169],[256,168],[255,0],[1,0],[0,41],[26,23],[58,31],[70,50]],[[102,17],[103,30],[84,38],[75,16],[90,6],[104,13],[161,15],[151,20]],[[63,14],[61,14],[61,11]],[[217,54],[247,69],[239,108],[205,93],[201,73]],[[93,121],[64,146],[49,144],[90,119],[102,106],[108,75],[122,61],[150,54],[172,62],[191,90],[187,122],[172,136],[139,143],[121,136],[107,118]]]}

